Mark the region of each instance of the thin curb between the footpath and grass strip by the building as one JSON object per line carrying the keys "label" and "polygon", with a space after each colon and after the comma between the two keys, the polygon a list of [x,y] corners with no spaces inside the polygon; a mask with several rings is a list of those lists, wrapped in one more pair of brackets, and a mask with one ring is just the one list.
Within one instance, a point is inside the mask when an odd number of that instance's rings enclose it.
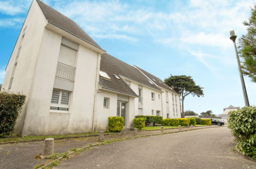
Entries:
{"label": "thin curb between the footpath and grass strip by the building", "polygon": [[[104,135],[115,135],[115,134],[121,134],[120,133],[106,133]],[[93,134],[93,135],[81,135],[81,136],[71,136],[71,137],[57,137],[54,138],[54,140],[62,140],[62,139],[69,139],[69,138],[81,138],[81,137],[94,137],[99,136],[99,134]],[[51,136],[49,136],[51,137]],[[19,141],[4,141],[0,142],[0,144],[12,144],[12,143],[24,143],[24,142],[36,142],[36,141],[45,141],[45,139],[37,139],[37,140],[19,140]]]}

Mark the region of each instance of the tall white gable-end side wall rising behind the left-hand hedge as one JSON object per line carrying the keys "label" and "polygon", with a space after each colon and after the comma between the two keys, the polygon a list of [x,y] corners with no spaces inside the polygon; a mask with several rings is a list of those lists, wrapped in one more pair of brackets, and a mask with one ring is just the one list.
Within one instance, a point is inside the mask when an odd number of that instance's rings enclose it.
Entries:
{"label": "tall white gable-end side wall rising behind the left-hand hedge", "polygon": [[[25,19],[24,25],[21,29],[21,31],[23,32],[24,28],[26,27],[21,52],[19,54],[16,70],[14,73],[12,87],[10,89],[11,92],[19,92],[26,95],[26,102],[24,104],[23,110],[21,114],[19,114],[19,118],[16,121],[14,129],[14,132],[16,134],[21,134],[23,130],[28,101],[30,100],[30,92],[34,77],[34,70],[37,62],[37,56],[40,49],[44,27],[46,24],[47,22],[40,10],[40,7],[35,1],[33,1],[27,18]],[[8,90],[14,61],[22,37],[22,32],[17,38],[16,45],[13,49],[8,66],[6,68],[6,75],[3,82],[2,90]]]}

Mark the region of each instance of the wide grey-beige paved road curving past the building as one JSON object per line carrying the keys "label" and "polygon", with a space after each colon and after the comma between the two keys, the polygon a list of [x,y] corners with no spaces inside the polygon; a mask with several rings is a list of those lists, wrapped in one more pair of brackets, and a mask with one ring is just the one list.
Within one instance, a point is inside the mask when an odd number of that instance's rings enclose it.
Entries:
{"label": "wide grey-beige paved road curving past the building", "polygon": [[226,127],[194,130],[93,147],[54,168],[256,168],[234,145]]}

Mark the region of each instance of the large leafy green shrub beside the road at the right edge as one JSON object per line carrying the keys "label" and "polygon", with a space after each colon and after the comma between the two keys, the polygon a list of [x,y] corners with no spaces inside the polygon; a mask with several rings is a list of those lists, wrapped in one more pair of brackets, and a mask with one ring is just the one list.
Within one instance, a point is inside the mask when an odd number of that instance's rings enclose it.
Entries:
{"label": "large leafy green shrub beside the road at the right edge", "polygon": [[229,112],[228,123],[238,150],[256,160],[256,107]]}

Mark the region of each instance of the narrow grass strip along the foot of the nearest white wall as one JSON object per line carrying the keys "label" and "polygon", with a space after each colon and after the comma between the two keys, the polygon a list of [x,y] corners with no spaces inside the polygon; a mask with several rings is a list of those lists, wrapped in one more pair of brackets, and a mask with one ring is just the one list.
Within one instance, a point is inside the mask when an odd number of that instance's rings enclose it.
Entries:
{"label": "narrow grass strip along the foot of the nearest white wall", "polygon": [[[104,134],[110,133],[110,132],[104,132]],[[92,133],[80,133],[80,134],[69,134],[69,135],[48,135],[48,136],[7,136],[7,137],[0,137],[0,142],[6,142],[6,141],[23,141],[23,140],[41,140],[46,138],[62,138],[62,137],[77,137],[77,136],[88,136],[88,135],[94,135],[99,134],[98,132]]]}

